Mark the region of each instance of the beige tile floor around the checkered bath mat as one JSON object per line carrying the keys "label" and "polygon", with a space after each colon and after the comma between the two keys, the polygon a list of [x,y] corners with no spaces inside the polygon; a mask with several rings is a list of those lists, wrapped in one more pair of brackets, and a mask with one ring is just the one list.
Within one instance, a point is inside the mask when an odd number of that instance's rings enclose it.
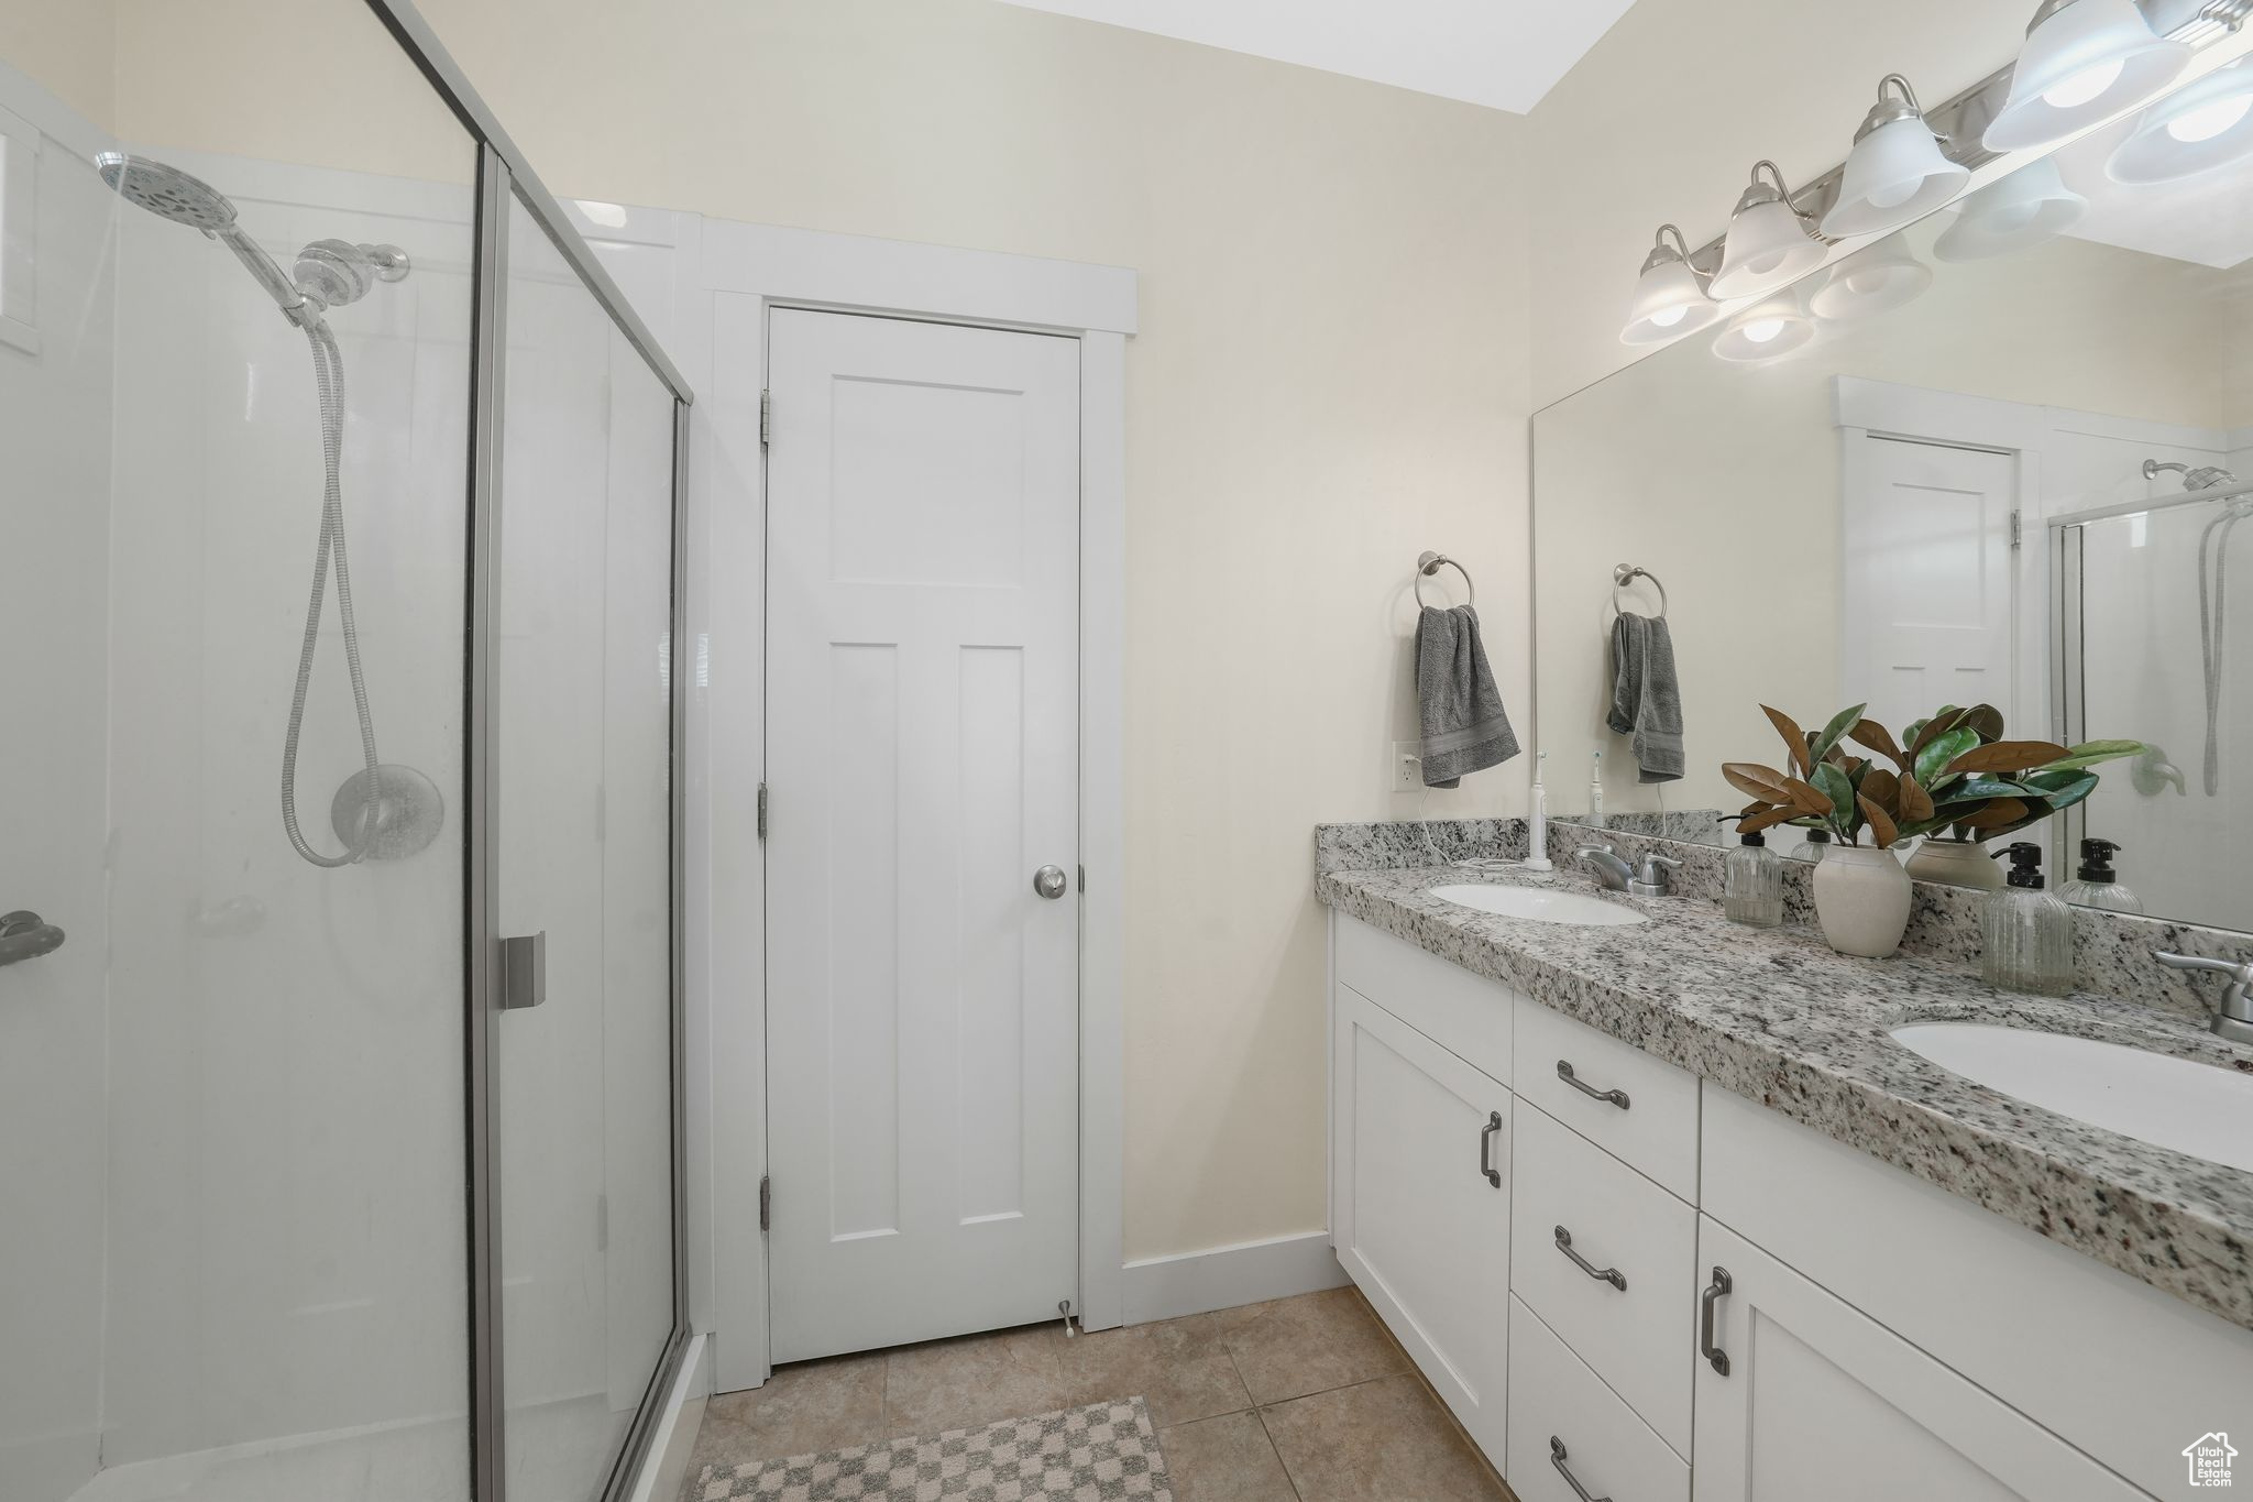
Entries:
{"label": "beige tile floor around the checkered bath mat", "polygon": [[1176,1502],[1510,1502],[1354,1288],[1066,1340],[1041,1324],[782,1367],[712,1398],[710,1466],[1142,1394]]}

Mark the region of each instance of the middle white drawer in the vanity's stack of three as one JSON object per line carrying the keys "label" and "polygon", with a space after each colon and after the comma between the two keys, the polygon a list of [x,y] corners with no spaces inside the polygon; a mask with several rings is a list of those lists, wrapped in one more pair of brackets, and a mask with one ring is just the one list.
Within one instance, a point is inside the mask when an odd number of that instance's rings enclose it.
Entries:
{"label": "middle white drawer in the vanity's stack of three", "polygon": [[1525,1101],[1512,1135],[1510,1290],[1687,1455],[1697,1212]]}

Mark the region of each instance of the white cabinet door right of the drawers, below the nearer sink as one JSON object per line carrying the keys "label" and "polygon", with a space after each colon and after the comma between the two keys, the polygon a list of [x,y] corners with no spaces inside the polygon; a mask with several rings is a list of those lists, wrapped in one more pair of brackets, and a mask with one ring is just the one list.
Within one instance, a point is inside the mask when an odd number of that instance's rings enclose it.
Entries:
{"label": "white cabinet door right of the drawers, below the nearer sink", "polygon": [[1728,1272],[1712,1335],[1728,1374],[1699,1358],[1694,1502],[2143,1497],[1708,1216],[1699,1263]]}

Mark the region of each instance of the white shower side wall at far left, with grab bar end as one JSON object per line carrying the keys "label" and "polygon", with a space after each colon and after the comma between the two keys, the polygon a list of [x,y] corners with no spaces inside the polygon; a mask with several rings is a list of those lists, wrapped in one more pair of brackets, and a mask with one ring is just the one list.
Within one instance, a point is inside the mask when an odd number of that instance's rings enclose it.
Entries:
{"label": "white shower side wall at far left, with grab bar end", "polygon": [[[0,345],[0,910],[70,937],[0,971],[0,1495],[52,1502],[99,1459],[106,1157],[108,205],[74,151],[99,133],[0,70],[0,110],[43,133],[41,349]],[[16,227],[9,225],[14,234]],[[32,723],[38,734],[27,734]]]}

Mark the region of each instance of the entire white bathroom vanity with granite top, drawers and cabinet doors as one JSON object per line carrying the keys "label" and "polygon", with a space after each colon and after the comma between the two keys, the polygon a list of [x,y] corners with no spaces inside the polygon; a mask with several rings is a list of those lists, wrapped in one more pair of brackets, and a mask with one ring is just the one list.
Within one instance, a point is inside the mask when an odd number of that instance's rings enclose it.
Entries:
{"label": "entire white bathroom vanity with granite top, drawers and cabinet doors", "polygon": [[[1464,880],[1647,921],[1431,894]],[[1570,874],[1316,885],[1338,1259],[1523,1502],[2206,1495],[2185,1446],[2253,1434],[2253,1173],[2025,1106],[1890,1029],[2253,1049]]]}

